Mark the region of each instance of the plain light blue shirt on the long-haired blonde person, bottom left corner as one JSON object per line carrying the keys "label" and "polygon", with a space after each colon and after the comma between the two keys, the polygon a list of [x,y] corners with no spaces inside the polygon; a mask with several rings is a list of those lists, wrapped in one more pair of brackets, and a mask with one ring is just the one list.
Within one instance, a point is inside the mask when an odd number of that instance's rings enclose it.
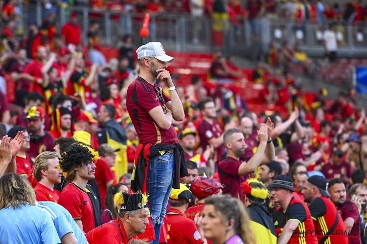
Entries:
{"label": "plain light blue shirt on the long-haired blonde person, bottom left corner", "polygon": [[55,226],[48,214],[29,204],[0,210],[0,244],[59,244]]}

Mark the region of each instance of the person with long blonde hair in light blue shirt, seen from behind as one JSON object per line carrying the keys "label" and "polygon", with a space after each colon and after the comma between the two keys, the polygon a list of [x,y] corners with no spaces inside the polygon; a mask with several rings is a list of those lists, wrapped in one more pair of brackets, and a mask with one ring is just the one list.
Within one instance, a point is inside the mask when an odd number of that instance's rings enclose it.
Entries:
{"label": "person with long blonde hair in light blue shirt, seen from behind", "polygon": [[36,194],[22,176],[0,178],[0,243],[61,243],[50,216],[35,204]]}

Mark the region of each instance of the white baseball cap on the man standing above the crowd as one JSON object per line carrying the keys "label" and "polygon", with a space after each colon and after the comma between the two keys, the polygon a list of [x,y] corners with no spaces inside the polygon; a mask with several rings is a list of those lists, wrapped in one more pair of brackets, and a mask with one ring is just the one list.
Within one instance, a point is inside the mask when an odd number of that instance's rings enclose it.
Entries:
{"label": "white baseball cap on the man standing above the crowd", "polygon": [[166,55],[161,42],[149,42],[137,49],[138,60],[145,58],[156,58],[163,62],[173,62],[175,59]]}

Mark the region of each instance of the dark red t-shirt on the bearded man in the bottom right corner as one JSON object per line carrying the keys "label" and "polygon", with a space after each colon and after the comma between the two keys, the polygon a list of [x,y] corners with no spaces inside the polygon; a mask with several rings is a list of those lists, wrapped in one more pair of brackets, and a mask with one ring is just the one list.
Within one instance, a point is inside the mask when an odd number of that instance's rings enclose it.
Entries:
{"label": "dark red t-shirt on the bearded man in the bottom right corner", "polygon": [[350,237],[348,237],[349,244],[361,244],[360,238],[355,238],[360,236],[361,233],[361,217],[359,216],[357,205],[350,200],[346,200],[345,203],[337,207],[339,213],[342,216],[343,221],[346,218],[352,218],[354,220],[354,225],[349,232]]}

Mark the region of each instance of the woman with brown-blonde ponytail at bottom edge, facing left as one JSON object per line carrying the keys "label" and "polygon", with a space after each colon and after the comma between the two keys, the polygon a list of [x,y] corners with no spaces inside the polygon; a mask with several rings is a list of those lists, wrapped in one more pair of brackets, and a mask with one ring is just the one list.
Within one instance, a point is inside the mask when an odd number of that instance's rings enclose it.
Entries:
{"label": "woman with brown-blonde ponytail at bottom edge, facing left", "polygon": [[243,203],[229,195],[207,198],[199,222],[205,238],[214,244],[256,243]]}

